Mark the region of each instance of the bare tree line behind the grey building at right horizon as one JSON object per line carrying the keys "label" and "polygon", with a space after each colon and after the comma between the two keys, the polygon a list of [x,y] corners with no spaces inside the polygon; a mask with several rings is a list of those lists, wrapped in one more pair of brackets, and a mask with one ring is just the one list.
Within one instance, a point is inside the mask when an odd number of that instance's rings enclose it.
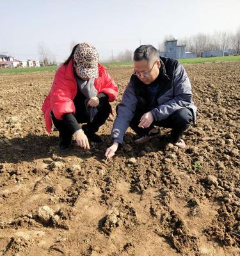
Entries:
{"label": "bare tree line behind the grey building at right horizon", "polygon": [[[163,42],[159,44],[159,51],[164,51],[164,42],[175,39],[173,35],[165,36]],[[221,31],[207,35],[198,33],[193,36],[178,38],[178,45],[186,45],[186,51],[197,52],[198,56],[202,51],[226,51],[231,49],[234,54],[240,54],[240,27],[236,33]]]}

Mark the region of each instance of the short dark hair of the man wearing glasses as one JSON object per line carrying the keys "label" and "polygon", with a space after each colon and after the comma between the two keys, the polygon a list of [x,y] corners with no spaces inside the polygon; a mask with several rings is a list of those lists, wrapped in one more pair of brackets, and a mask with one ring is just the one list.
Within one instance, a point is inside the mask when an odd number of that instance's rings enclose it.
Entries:
{"label": "short dark hair of the man wearing glasses", "polygon": [[159,59],[159,52],[157,49],[148,44],[148,45],[141,45],[134,51],[133,60],[140,61],[140,60],[157,60]]}

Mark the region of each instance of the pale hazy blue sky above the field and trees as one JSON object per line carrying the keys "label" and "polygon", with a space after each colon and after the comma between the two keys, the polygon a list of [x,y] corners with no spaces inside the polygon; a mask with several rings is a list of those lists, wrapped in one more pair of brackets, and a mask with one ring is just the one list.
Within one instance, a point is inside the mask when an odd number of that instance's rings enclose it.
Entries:
{"label": "pale hazy blue sky above the field and trees", "polygon": [[158,46],[175,38],[235,32],[240,0],[12,0],[1,1],[0,52],[38,60],[44,44],[57,61],[70,54],[71,42],[90,42],[100,60],[141,44]]}

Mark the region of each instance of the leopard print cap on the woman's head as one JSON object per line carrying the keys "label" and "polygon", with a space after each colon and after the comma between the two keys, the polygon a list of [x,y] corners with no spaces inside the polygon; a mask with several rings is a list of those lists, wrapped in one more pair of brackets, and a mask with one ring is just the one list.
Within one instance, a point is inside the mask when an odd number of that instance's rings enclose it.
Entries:
{"label": "leopard print cap on the woman's head", "polygon": [[99,77],[99,54],[97,49],[88,43],[77,45],[74,52],[77,71],[83,79]]}

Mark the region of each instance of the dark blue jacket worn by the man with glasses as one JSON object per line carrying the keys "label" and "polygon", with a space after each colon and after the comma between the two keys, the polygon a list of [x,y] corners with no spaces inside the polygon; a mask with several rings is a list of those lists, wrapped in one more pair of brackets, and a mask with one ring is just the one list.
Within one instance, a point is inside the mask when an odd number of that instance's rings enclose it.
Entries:
{"label": "dark blue jacket worn by the man with glasses", "polygon": [[[191,108],[196,120],[196,106],[193,103],[191,83],[184,67],[177,60],[160,57],[159,91],[157,92],[156,108],[150,110],[155,121],[161,121],[181,108]],[[118,111],[111,138],[122,143],[124,134],[134,116],[136,108],[147,109],[147,85],[132,76],[125,89],[122,101],[118,104]]]}

